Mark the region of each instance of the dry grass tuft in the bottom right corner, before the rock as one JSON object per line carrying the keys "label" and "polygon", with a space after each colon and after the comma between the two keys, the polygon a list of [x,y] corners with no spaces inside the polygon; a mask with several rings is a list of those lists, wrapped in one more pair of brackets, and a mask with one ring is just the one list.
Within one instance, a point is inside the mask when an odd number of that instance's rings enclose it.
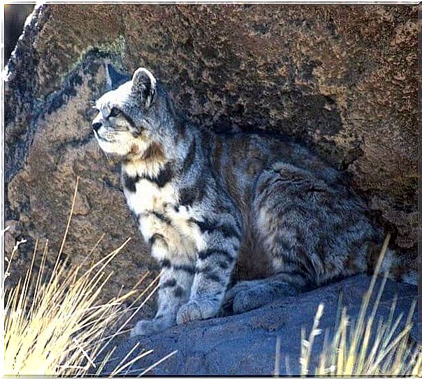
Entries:
{"label": "dry grass tuft in the bottom right corner, before the rock", "polygon": [[[387,276],[381,282],[377,297],[368,312],[370,299],[377,281],[379,267],[384,258],[389,241],[389,235],[384,241],[379,262],[375,269],[370,288],[365,293],[361,310],[356,322],[351,323],[345,308],[341,309],[337,327],[330,343],[326,332],[323,350],[319,356],[319,365],[315,371],[318,376],[421,376],[422,375],[422,350],[421,346],[411,343],[409,332],[412,327],[412,316],[416,302],[412,304],[404,329],[398,330],[403,315],[395,317],[395,304],[388,320],[379,320],[375,326],[375,315],[379,306]],[[321,334],[319,320],[323,313],[320,304],[314,318],[314,325],[308,339],[305,332],[302,336],[302,354],[300,358],[301,374],[309,374],[310,359],[312,357],[312,343],[315,336]],[[368,315],[369,314],[369,315]]]}

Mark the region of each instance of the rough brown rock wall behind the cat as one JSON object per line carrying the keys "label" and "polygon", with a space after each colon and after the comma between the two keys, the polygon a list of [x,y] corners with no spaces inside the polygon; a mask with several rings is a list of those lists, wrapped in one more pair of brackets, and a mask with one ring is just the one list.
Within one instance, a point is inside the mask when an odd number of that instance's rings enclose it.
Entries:
{"label": "rough brown rock wall behind the cat", "polygon": [[108,62],[129,73],[150,68],[192,121],[313,147],[349,172],[393,243],[415,257],[416,22],[416,6],[36,8],[5,89],[7,243],[28,239],[15,274],[35,239],[49,239],[54,260],[78,176],[71,262],[105,233],[93,259],[133,237],[112,263],[106,296],[157,269],[124,205],[118,165],[91,132]]}

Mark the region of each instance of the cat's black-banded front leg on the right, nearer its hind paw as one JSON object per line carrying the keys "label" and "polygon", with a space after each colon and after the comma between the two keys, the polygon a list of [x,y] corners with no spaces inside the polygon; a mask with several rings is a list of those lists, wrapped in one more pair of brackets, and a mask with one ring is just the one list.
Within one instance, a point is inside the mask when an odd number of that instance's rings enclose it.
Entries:
{"label": "cat's black-banded front leg on the right, nearer its hind paw", "polygon": [[239,228],[222,222],[204,236],[206,245],[198,251],[189,301],[177,312],[178,325],[219,313],[240,246]]}

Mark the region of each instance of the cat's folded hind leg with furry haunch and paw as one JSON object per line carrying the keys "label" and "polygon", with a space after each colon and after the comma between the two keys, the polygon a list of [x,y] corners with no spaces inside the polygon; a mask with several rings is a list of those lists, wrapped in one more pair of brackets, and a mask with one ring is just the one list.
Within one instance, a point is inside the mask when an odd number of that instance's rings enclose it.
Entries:
{"label": "cat's folded hind leg with furry haunch and paw", "polygon": [[374,229],[363,204],[338,183],[335,172],[275,163],[262,172],[255,190],[254,228],[272,276],[235,285],[225,302],[235,313],[363,272]]}

